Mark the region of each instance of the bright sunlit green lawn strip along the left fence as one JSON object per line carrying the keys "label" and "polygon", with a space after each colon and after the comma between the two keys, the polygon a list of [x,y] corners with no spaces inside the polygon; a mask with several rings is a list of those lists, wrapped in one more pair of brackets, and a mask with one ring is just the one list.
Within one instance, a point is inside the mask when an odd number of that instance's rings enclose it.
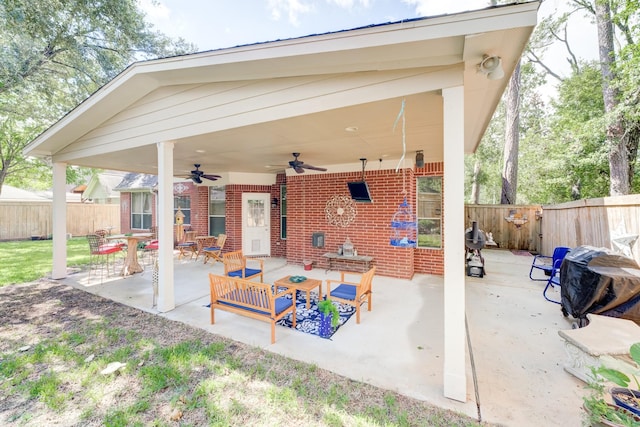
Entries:
{"label": "bright sunlit green lawn strip along the left fence", "polygon": [[[0,242],[0,286],[37,280],[51,274],[52,240]],[[85,237],[67,240],[67,265],[89,264],[89,243]]]}

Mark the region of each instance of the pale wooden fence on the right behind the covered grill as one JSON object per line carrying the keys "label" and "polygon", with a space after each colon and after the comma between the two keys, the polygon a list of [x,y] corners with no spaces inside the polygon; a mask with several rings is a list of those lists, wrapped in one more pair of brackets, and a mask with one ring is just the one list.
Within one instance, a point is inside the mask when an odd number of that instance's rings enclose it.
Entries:
{"label": "pale wooden fence on the right behind the covered grill", "polygon": [[[640,195],[603,197],[543,206],[543,254],[557,246],[594,246],[614,249],[611,232],[623,224],[628,234],[640,234]],[[640,262],[640,244],[632,246],[633,258]]]}

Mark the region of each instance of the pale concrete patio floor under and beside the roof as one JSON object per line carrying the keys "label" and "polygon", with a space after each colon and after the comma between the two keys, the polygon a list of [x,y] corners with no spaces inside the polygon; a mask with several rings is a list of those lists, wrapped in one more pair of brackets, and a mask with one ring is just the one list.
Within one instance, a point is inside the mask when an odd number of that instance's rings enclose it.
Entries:
{"label": "pale concrete patio floor under and beside the roof", "polygon": [[[420,399],[483,421],[506,426],[579,426],[585,384],[563,369],[566,360],[558,330],[571,329],[560,306],[542,297],[544,282],[529,280],[532,256],[485,249],[486,275],[466,278],[467,320],[478,382],[473,382],[467,351],[466,403],[443,396],[443,278],[415,275],[412,280],[376,276],[373,310],[363,306],[361,323],[353,316],[330,340],[284,327],[270,344],[266,322],[217,311],[209,323],[207,274],[221,274],[220,263],[176,260],[176,308],[151,307],[151,271],[103,284],[86,273],[64,279],[76,288],[246,344],[317,366],[378,387]],[[338,279],[338,272],[287,265],[265,259],[265,282],[301,274]],[[323,286],[323,290],[326,287]],[[556,294],[559,298],[559,294]]]}

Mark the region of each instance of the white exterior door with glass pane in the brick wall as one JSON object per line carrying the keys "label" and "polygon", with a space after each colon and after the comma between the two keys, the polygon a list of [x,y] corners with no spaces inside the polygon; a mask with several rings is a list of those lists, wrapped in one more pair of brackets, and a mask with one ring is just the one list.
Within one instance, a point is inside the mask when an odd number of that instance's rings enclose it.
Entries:
{"label": "white exterior door with glass pane in the brick wall", "polygon": [[242,194],[242,252],[244,255],[271,255],[271,195]]}

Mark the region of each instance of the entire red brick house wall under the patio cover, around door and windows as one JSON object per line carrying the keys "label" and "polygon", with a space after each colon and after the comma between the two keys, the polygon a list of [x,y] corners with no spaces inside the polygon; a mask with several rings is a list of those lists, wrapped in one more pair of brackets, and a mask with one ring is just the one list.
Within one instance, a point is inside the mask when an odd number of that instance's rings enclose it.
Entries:
{"label": "entire red brick house wall under the patio cover, around door and windows", "polygon": [[[322,255],[335,252],[347,237],[359,255],[374,257],[377,274],[411,278],[414,273],[444,274],[444,252],[441,249],[407,249],[391,246],[391,218],[404,200],[416,209],[416,177],[442,176],[442,162],[428,163],[423,168],[396,172],[377,170],[365,173],[373,203],[355,203],[357,215],[347,227],[330,225],[325,207],[335,195],[349,196],[347,182],[359,181],[362,172],[300,174],[286,177],[279,174],[274,185],[226,186],[225,252],[242,249],[242,193],[269,193],[278,199],[278,207],[271,210],[271,256],[286,257],[287,262],[302,265],[313,261],[314,267],[328,267]],[[280,185],[287,185],[287,239],[280,238]],[[209,229],[208,187],[183,183],[187,189],[182,195],[191,196],[191,226],[198,235],[207,235]],[[444,185],[443,185],[444,187]],[[178,194],[178,193],[176,193]],[[121,194],[121,230],[130,230],[130,193]],[[153,223],[156,223],[155,203]],[[324,248],[312,246],[312,235],[324,232]],[[444,233],[444,223],[443,223]]]}

